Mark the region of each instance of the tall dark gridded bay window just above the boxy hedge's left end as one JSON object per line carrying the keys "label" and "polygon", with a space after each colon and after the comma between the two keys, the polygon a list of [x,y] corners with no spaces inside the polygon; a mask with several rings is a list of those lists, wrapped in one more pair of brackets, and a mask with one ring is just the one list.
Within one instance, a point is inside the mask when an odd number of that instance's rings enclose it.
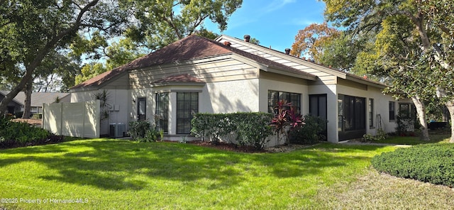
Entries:
{"label": "tall dark gridded bay window just above the boxy hedge's left end", "polygon": [[177,133],[191,133],[191,120],[199,112],[198,92],[177,92]]}

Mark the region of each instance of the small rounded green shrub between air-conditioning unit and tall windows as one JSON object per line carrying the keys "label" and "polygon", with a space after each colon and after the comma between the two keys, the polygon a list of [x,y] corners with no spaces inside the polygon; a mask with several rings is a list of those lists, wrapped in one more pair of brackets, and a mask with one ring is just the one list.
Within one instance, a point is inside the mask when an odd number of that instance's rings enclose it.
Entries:
{"label": "small rounded green shrub between air-conditioning unit and tall windows", "polygon": [[156,141],[160,136],[159,131],[152,128],[149,121],[131,121],[129,122],[129,135],[133,140],[140,142]]}

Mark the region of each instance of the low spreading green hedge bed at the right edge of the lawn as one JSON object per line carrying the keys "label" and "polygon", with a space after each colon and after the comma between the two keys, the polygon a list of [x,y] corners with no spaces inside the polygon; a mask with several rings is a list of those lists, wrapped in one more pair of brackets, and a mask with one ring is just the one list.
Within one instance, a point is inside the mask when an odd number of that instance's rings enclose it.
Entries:
{"label": "low spreading green hedge bed at the right edge of the lawn", "polygon": [[454,187],[454,144],[416,145],[372,158],[380,172]]}

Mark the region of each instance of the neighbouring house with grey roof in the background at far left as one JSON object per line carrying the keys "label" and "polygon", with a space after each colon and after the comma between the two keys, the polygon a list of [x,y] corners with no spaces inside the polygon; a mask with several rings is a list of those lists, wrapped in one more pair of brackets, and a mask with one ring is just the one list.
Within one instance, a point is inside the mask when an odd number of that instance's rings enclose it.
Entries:
{"label": "neighbouring house with grey roof in the background at far left", "polygon": [[[9,91],[0,91],[0,100],[4,99]],[[43,113],[44,103],[53,103],[58,97],[61,102],[70,102],[70,93],[52,93],[52,92],[33,92],[31,94],[31,114]],[[8,105],[8,113],[17,114],[23,111],[25,107],[26,94],[19,92],[13,101]],[[21,116],[18,116],[21,117]]]}

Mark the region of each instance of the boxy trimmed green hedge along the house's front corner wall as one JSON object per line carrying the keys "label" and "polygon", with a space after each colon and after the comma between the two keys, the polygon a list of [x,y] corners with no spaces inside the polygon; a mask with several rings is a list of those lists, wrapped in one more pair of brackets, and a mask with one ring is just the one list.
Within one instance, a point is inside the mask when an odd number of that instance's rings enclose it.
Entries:
{"label": "boxy trimmed green hedge along the house's front corner wall", "polygon": [[238,145],[263,148],[272,135],[272,114],[263,112],[237,112],[229,114],[197,113],[192,118],[191,133],[212,143],[221,140]]}

